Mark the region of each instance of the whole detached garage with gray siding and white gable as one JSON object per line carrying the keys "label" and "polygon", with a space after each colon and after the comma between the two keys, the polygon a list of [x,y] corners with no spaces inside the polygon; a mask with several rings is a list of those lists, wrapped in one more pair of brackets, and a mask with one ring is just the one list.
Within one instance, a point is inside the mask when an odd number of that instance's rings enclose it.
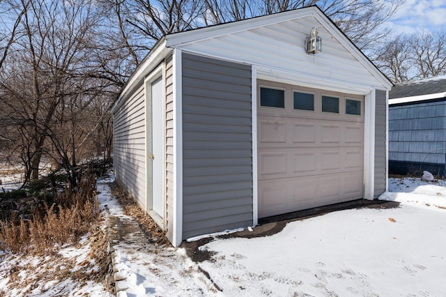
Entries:
{"label": "whole detached garage with gray siding and white gable", "polygon": [[[323,46],[309,51],[316,36]],[[115,180],[174,246],[376,199],[387,190],[391,87],[317,6],[169,33],[112,108]],[[135,121],[135,108],[148,121]],[[157,154],[153,128],[164,139]]]}

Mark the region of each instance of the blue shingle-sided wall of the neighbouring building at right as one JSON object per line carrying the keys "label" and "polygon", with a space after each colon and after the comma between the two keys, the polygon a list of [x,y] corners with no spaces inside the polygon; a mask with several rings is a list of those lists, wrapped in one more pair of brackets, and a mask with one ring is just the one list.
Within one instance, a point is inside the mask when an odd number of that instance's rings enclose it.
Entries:
{"label": "blue shingle-sided wall of the neighbouring building at right", "polygon": [[389,107],[389,160],[445,164],[446,102]]}

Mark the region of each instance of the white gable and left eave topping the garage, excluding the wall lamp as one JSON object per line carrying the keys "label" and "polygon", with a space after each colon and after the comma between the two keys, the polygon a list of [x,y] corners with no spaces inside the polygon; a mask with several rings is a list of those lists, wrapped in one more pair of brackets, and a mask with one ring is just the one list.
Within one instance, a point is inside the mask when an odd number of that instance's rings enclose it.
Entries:
{"label": "white gable and left eave topping the garage, excluding the wall lamp", "polygon": [[[306,54],[303,47],[312,27],[323,38],[323,51],[317,55]],[[174,49],[248,63],[266,75],[282,73],[282,77],[317,82],[323,89],[368,93],[393,86],[320,8],[307,6],[168,34],[140,63],[120,98]]]}

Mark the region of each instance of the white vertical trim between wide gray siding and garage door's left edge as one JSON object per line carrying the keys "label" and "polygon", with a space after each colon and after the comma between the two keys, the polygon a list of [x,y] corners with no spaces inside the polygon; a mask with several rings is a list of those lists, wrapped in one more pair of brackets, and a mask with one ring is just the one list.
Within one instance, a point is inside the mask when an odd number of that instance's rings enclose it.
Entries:
{"label": "white vertical trim between wide gray siding and garage door's left edge", "polygon": [[259,223],[259,188],[257,181],[257,69],[251,67],[251,103],[252,103],[252,225]]}

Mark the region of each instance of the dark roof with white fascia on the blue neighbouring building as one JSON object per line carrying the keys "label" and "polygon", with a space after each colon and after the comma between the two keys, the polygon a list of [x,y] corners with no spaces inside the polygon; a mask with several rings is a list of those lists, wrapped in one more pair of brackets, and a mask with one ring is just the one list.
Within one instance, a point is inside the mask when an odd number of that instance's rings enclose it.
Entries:
{"label": "dark roof with white fascia on the blue neighbouring building", "polygon": [[446,97],[446,75],[403,82],[389,92],[389,104],[416,102]]}

